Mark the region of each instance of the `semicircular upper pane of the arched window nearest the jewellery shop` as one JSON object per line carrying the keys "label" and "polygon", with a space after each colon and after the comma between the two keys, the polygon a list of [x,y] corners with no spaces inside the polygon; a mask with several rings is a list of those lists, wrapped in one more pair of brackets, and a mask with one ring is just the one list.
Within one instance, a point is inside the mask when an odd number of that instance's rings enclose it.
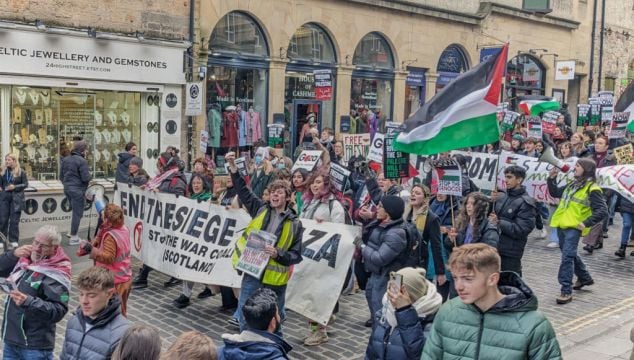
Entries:
{"label": "semicircular upper pane of the arched window nearest the jewellery shop", "polygon": [[269,49],[260,26],[241,12],[225,15],[211,33],[209,49],[212,55],[237,53],[241,56],[266,57]]}

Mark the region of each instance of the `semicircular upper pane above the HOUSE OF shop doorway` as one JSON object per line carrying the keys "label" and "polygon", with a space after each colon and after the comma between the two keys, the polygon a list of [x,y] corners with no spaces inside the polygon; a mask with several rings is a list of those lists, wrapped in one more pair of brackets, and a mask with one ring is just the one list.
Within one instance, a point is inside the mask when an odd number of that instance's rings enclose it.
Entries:
{"label": "semicircular upper pane above the HOUSE OF shop doorway", "polygon": [[291,61],[335,64],[337,58],[330,36],[315,24],[302,25],[288,44],[286,57]]}

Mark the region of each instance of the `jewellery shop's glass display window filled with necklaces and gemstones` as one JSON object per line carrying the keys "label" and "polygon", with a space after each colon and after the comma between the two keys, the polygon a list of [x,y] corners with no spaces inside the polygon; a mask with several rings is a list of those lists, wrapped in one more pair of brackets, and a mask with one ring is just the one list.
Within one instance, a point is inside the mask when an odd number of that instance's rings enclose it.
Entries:
{"label": "jewellery shop's glass display window filled with necklaces and gemstones", "polygon": [[[94,178],[114,177],[117,154],[140,144],[140,93],[11,87],[10,150],[34,180],[59,180],[73,140],[88,143]],[[158,132],[159,125],[148,124]],[[154,128],[156,128],[154,130]]]}

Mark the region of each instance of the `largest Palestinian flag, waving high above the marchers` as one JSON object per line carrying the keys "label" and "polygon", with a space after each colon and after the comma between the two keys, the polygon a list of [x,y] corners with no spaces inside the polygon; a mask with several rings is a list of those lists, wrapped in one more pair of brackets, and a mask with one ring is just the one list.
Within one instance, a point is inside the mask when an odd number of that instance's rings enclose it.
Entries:
{"label": "largest Palestinian flag, waving high above the marchers", "polygon": [[497,111],[508,44],[444,87],[403,124],[397,151],[432,155],[499,140]]}

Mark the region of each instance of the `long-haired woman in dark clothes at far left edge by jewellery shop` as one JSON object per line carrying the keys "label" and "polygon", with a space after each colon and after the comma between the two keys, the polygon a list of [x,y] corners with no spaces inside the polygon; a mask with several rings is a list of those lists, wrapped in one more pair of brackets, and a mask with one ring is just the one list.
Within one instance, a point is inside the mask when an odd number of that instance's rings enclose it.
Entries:
{"label": "long-haired woman in dark clothes at far left edge by jewellery shop", "polygon": [[[18,246],[20,240],[20,216],[24,210],[24,189],[29,186],[26,173],[20,168],[15,154],[4,157],[2,179],[0,180],[0,233],[11,247]],[[0,247],[5,247],[4,241]]]}

